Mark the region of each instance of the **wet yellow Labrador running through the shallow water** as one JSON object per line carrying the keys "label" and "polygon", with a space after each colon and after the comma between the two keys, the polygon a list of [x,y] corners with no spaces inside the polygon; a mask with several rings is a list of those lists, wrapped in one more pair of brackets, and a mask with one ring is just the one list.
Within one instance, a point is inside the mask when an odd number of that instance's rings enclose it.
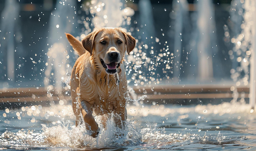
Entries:
{"label": "wet yellow Labrador running through the shallow water", "polygon": [[[97,137],[100,128],[92,113],[102,115],[105,127],[110,113],[116,126],[124,127],[127,118],[126,72],[123,65],[124,55],[135,48],[136,40],[121,28],[97,28],[82,41],[71,34],[66,37],[73,50],[78,53],[72,69],[70,88],[76,126],[84,120],[92,137]],[[81,117],[82,115],[82,117]]]}

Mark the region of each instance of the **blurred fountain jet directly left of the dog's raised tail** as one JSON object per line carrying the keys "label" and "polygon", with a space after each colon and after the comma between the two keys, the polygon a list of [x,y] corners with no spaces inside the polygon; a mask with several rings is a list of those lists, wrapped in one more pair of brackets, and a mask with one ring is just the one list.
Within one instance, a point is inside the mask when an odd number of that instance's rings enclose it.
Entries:
{"label": "blurred fountain jet directly left of the dog's raised tail", "polygon": [[[65,32],[76,31],[76,2],[73,0],[58,0],[56,10],[50,16],[50,29],[47,41],[47,62],[45,70],[44,85],[48,90],[56,89],[56,94],[61,94],[63,87],[68,83],[68,75],[71,73],[74,61],[74,53],[68,50],[68,41],[65,39]],[[67,81],[67,82],[66,82]],[[66,82],[66,83],[65,83]],[[65,88],[67,90],[67,88]],[[51,93],[47,96],[50,98]]]}

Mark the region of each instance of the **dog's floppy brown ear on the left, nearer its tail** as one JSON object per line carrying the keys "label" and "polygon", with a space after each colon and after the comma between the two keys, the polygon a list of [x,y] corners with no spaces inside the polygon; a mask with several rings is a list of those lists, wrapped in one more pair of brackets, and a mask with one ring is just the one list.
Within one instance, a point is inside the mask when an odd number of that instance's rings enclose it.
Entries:
{"label": "dog's floppy brown ear on the left, nearer its tail", "polygon": [[92,54],[94,39],[97,34],[98,32],[94,30],[82,40],[83,47],[85,48],[85,50],[87,50],[90,53],[90,55]]}

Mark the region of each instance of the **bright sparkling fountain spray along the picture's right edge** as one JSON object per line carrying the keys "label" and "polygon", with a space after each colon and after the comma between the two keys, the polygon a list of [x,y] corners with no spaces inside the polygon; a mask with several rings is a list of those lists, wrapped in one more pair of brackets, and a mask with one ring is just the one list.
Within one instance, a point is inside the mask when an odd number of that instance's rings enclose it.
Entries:
{"label": "bright sparkling fountain spray along the picture's right edge", "polygon": [[[235,66],[231,70],[231,78],[236,82],[236,86],[239,85],[250,85],[250,93],[249,93],[249,104],[252,109],[255,107],[256,103],[256,70],[255,70],[255,27],[256,18],[254,17],[254,9],[256,7],[256,3],[254,1],[233,1],[231,5],[235,5],[236,8],[233,8],[232,11],[238,12],[236,20],[234,22],[239,22],[237,20],[239,16],[242,15],[242,9],[244,7],[243,14],[243,23],[240,27],[236,28],[235,37],[231,39],[231,42],[235,45],[233,48],[233,53],[231,53],[231,57],[237,56],[236,61],[239,63],[239,66]],[[240,7],[239,7],[240,6]],[[239,33],[239,29],[241,32]],[[250,80],[249,80],[250,79]],[[235,94],[233,100],[237,100],[238,95]]]}

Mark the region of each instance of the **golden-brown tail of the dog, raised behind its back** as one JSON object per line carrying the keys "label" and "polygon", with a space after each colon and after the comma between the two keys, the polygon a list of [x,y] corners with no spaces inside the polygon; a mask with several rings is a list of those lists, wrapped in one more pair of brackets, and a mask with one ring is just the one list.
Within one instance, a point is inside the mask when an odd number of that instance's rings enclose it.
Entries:
{"label": "golden-brown tail of the dog, raised behind its back", "polygon": [[65,33],[65,34],[69,40],[70,45],[73,47],[73,50],[77,52],[79,56],[84,54],[86,50],[84,49],[82,42],[76,39],[74,36],[72,36],[69,33]]}

